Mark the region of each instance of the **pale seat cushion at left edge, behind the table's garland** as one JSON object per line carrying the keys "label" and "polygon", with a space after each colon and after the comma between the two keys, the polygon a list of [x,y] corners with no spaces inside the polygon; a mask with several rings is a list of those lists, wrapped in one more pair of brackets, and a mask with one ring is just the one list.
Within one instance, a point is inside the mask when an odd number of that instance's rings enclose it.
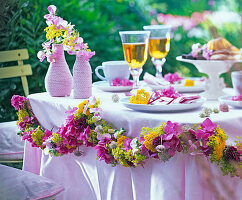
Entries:
{"label": "pale seat cushion at left edge, behind the table's garland", "polygon": [[0,123],[0,160],[23,159],[24,141],[18,132],[16,121]]}

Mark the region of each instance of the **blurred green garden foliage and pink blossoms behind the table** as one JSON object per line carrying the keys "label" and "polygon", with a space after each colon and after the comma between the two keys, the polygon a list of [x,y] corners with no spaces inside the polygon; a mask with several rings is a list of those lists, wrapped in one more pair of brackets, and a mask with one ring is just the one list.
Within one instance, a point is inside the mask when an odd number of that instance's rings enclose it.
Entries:
{"label": "blurred green garden foliage and pink blossoms behind the table", "polygon": [[[0,3],[0,51],[28,49],[30,58],[25,63],[31,64],[33,70],[28,77],[30,93],[45,91],[49,63],[46,60],[41,63],[37,53],[45,41],[43,16],[49,5],[56,5],[58,16],[75,24],[84,42],[96,52],[90,60],[93,72],[104,61],[123,60],[119,31],[142,30],[149,24],[173,27],[164,74],[177,71],[182,76],[202,76],[193,65],[176,61],[177,56],[189,53],[194,43],[204,44],[217,36],[225,37],[238,48],[242,43],[241,0],[0,0]],[[65,57],[72,71],[75,56]],[[155,74],[150,58],[143,69]],[[229,73],[223,77],[231,86]],[[94,73],[93,81],[98,81]],[[1,122],[16,118],[10,106],[14,94],[24,95],[20,78],[0,80]]]}

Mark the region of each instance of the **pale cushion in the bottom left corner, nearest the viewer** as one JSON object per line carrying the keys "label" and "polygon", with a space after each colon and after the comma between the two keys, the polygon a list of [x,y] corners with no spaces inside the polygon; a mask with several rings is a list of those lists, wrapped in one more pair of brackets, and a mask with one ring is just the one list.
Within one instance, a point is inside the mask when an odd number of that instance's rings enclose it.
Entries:
{"label": "pale cushion in the bottom left corner, nearest the viewer", "polygon": [[0,165],[0,199],[53,199],[63,190],[48,178]]}

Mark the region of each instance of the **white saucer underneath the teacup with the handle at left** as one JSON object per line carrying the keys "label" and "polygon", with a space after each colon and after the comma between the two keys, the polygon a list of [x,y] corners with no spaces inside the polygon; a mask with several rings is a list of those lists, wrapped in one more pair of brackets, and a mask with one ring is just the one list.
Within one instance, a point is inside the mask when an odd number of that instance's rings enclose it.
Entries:
{"label": "white saucer underneath the teacup with the handle at left", "polygon": [[132,90],[133,86],[111,86],[107,81],[97,81],[92,84],[98,89],[105,92],[127,92]]}

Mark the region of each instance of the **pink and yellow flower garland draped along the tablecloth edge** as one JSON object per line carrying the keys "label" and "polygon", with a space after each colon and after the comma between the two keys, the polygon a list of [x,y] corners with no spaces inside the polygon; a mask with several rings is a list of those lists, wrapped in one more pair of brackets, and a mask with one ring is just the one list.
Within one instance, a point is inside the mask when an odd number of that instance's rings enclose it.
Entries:
{"label": "pink and yellow flower garland draped along the tablecloth edge", "polygon": [[17,110],[22,139],[53,156],[72,153],[85,145],[93,147],[99,160],[107,164],[135,167],[143,166],[149,158],[165,162],[176,152],[183,152],[210,157],[224,175],[242,178],[242,141],[238,137],[236,145],[226,145],[228,136],[209,118],[190,128],[163,122],[159,127],[143,127],[138,137],[127,137],[124,129],[117,130],[101,118],[100,101],[90,97],[78,108],[66,111],[66,122],[52,132],[40,126],[27,98],[14,95],[11,103]]}

